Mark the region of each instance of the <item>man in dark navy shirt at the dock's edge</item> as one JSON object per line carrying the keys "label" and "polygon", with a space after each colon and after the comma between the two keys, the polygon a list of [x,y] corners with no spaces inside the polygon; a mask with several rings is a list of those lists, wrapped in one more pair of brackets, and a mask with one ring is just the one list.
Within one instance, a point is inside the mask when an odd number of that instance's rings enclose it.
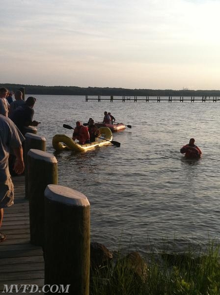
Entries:
{"label": "man in dark navy shirt at the dock's edge", "polygon": [[37,126],[39,122],[33,121],[34,110],[33,106],[35,104],[36,98],[29,96],[24,103],[24,105],[18,107],[11,115],[11,120],[15,123],[18,129],[23,135],[26,133],[27,126]]}

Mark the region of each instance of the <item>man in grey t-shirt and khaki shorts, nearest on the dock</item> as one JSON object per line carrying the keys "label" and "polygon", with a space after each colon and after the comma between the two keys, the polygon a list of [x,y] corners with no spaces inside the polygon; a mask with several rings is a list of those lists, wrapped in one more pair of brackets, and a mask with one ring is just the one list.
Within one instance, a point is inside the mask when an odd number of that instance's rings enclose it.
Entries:
{"label": "man in grey t-shirt and khaki shorts, nearest on the dock", "polygon": [[[14,171],[22,174],[25,169],[23,160],[22,142],[25,138],[19,132],[16,125],[3,115],[0,115],[0,228],[2,225],[5,207],[14,204],[14,185],[11,180],[8,167],[9,151],[12,148],[16,156]],[[6,236],[0,232],[0,242]]]}

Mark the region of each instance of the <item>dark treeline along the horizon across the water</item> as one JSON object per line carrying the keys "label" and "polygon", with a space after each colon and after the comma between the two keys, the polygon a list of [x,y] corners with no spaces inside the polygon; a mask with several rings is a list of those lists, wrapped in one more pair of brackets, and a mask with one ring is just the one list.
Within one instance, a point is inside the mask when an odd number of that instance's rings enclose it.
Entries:
{"label": "dark treeline along the horizon across the water", "polygon": [[26,94],[42,95],[113,95],[113,96],[220,96],[220,90],[124,89],[109,87],[41,86],[0,84],[11,91],[25,88]]}

